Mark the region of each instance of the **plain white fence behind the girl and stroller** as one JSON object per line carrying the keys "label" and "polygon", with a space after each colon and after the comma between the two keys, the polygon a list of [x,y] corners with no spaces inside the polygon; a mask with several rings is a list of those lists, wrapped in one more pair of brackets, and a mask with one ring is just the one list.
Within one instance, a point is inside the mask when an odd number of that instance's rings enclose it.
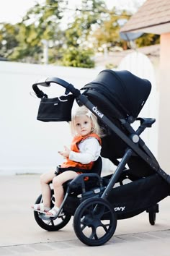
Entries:
{"label": "plain white fence behind the girl and stroller", "polygon": [[[81,88],[94,80],[99,71],[0,61],[0,174],[48,171],[63,161],[58,150],[70,144],[66,122],[36,120],[40,100],[30,95],[32,84],[42,77],[60,77]],[[64,91],[59,85],[42,90],[52,98]],[[104,161],[105,170],[111,166]]]}

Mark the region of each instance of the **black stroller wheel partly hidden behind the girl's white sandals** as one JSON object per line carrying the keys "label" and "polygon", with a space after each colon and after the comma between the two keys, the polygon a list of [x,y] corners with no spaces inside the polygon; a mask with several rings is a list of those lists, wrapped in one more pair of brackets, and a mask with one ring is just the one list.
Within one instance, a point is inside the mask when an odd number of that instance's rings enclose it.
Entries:
{"label": "black stroller wheel partly hidden behind the girl's white sandals", "polygon": [[[40,202],[42,202],[42,195],[37,197],[37,200],[35,201],[36,204]],[[42,229],[45,229],[47,231],[58,231],[59,229],[63,229],[63,227],[66,226],[66,224],[71,219],[71,215],[67,215],[67,214],[62,217],[56,218],[55,220],[52,220],[52,219],[45,220],[40,218],[41,216],[42,216],[41,213],[34,211],[35,221]]]}

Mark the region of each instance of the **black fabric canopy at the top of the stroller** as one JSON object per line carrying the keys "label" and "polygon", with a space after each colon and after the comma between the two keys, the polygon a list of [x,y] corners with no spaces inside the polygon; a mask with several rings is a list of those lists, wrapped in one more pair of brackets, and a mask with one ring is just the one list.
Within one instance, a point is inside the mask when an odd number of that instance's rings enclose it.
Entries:
{"label": "black fabric canopy at the top of the stroller", "polygon": [[127,70],[105,69],[81,90],[93,90],[93,93],[96,90],[114,104],[123,116],[136,118],[151,92],[151,82]]}

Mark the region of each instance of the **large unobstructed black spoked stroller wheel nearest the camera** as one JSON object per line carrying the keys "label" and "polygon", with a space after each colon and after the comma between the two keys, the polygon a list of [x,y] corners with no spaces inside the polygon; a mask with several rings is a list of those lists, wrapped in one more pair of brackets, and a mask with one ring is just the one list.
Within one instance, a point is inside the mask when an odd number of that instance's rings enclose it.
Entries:
{"label": "large unobstructed black spoked stroller wheel nearest the camera", "polygon": [[76,209],[73,229],[81,242],[99,246],[115,233],[117,218],[114,209],[102,198],[89,198]]}

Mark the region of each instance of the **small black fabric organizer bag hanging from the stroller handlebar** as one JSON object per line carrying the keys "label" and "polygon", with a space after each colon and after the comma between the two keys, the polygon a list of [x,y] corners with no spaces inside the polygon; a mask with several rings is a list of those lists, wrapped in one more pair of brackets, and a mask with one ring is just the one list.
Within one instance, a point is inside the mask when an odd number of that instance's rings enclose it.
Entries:
{"label": "small black fabric organizer bag hanging from the stroller handlebar", "polygon": [[73,101],[74,97],[72,94],[57,98],[42,98],[38,108],[37,120],[71,121]]}

